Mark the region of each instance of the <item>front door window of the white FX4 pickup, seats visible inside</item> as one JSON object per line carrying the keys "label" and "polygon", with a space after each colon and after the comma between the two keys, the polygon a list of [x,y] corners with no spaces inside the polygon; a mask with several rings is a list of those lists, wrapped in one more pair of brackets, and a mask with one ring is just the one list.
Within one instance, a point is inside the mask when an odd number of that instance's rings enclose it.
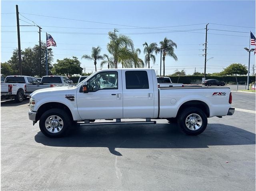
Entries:
{"label": "front door window of the white FX4 pickup, seats visible inside", "polygon": [[88,83],[89,92],[98,90],[113,90],[118,89],[118,73],[117,72],[100,72]]}

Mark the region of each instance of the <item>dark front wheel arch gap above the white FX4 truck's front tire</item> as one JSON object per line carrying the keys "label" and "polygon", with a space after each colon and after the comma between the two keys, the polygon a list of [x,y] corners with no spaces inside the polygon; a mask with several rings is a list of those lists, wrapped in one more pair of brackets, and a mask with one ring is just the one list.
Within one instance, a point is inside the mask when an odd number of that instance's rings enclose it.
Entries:
{"label": "dark front wheel arch gap above the white FX4 truck's front tire", "polygon": [[58,108],[58,109],[64,109],[64,111],[66,111],[68,113],[68,115],[71,117],[71,119],[73,120],[73,115],[72,112],[70,111],[69,107],[66,106],[63,103],[59,103],[59,102],[48,102],[48,103],[44,103],[43,105],[41,105],[36,113],[36,121],[40,120],[40,117],[42,116],[42,114],[49,110],[49,109],[54,109],[54,108]]}

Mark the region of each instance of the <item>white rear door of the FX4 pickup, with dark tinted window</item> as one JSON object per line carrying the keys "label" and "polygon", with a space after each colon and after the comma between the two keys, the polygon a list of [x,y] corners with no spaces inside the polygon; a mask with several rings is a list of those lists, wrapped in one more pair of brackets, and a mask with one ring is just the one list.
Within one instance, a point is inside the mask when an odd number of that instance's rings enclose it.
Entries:
{"label": "white rear door of the FX4 pickup, with dark tinted window", "polygon": [[154,117],[152,72],[122,70],[124,118]]}

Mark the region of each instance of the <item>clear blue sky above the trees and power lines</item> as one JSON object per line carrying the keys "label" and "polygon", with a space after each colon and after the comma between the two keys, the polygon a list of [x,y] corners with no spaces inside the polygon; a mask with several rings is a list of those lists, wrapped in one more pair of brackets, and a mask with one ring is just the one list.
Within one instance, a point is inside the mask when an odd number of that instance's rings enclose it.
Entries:
{"label": "clear blue sky above the trees and power lines", "polygon": [[[94,63],[81,59],[91,55],[92,47],[100,46],[108,54],[108,32],[118,29],[129,36],[134,48],[168,38],[177,44],[178,61],[166,57],[165,74],[184,70],[204,72],[204,43],[207,35],[206,73],[221,72],[232,63],[248,66],[250,31],[255,35],[255,1],[1,1],[1,62],[6,62],[18,47],[16,7],[20,25],[38,25],[41,40],[46,32],[57,43],[52,47],[54,62],[78,57],[85,72],[94,71]],[[33,23],[34,22],[34,23]],[[39,44],[38,27],[20,26],[21,49]],[[250,48],[255,48],[251,46]],[[97,68],[100,69],[100,62]],[[150,66],[160,74],[160,54]],[[119,64],[118,68],[122,66]],[[255,66],[251,52],[250,72]],[[104,66],[103,68],[107,68]],[[162,69],[163,71],[163,69]]]}

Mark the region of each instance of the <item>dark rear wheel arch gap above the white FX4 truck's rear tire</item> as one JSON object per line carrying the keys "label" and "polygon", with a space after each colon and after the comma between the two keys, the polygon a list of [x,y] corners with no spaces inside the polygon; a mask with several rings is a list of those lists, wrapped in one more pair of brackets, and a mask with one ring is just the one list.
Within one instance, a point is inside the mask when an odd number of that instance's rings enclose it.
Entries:
{"label": "dark rear wheel arch gap above the white FX4 truck's rear tire", "polygon": [[197,108],[201,109],[202,111],[204,111],[204,113],[206,114],[206,117],[210,116],[209,106],[204,101],[199,101],[199,100],[186,101],[185,103],[180,105],[177,116],[179,115],[179,113],[181,111],[183,111],[184,109],[186,109],[188,107],[197,107]]}

